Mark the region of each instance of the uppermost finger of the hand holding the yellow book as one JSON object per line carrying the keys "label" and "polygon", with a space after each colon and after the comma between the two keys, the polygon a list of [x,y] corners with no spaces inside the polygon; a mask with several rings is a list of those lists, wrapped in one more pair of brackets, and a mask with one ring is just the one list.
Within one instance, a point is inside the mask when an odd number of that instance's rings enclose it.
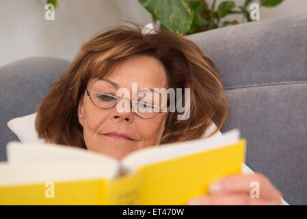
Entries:
{"label": "uppermost finger of the hand holding the yellow book", "polygon": [[[252,191],[253,190],[253,191]],[[248,193],[258,190],[261,198],[280,198],[280,192],[271,181],[260,173],[249,175],[231,175],[209,185],[209,194]]]}

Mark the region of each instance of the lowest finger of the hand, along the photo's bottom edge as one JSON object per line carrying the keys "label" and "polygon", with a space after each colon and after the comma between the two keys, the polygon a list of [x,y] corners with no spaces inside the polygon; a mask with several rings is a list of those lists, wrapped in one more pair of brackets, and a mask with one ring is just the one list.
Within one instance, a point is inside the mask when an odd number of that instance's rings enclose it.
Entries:
{"label": "lowest finger of the hand, along the photo's bottom edge", "polygon": [[281,205],[281,201],[251,198],[246,194],[208,195],[189,200],[188,205]]}

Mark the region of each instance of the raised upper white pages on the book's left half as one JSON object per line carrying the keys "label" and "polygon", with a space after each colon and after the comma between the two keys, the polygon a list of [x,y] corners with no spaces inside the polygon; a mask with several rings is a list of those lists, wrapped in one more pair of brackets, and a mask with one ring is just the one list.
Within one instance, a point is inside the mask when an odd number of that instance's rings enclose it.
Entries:
{"label": "raised upper white pages on the book's left half", "polygon": [[[21,142],[9,142],[7,145],[8,164],[36,164],[42,163],[62,163],[71,166],[69,163],[87,164],[97,166],[97,176],[104,175],[108,179],[113,179],[120,166],[116,159],[80,149],[72,146],[62,146],[57,144],[23,144]],[[79,165],[78,165],[79,166]],[[79,172],[86,176],[85,168]]]}

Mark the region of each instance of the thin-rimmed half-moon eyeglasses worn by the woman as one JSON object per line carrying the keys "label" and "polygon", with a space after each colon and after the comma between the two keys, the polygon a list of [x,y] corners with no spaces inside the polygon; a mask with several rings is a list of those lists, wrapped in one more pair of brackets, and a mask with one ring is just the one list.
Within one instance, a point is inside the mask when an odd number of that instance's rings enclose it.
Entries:
{"label": "thin-rimmed half-moon eyeglasses worn by the woman", "polygon": [[113,96],[111,94],[105,94],[103,92],[88,91],[86,88],[86,94],[90,96],[90,100],[96,107],[109,109],[117,105],[121,100],[129,100],[130,107],[132,111],[137,114],[137,116],[142,118],[152,118],[157,116],[160,112],[163,112],[164,108],[168,106],[165,105],[163,108],[157,105],[152,105],[151,103],[146,102],[145,100],[141,101],[132,101],[126,97],[119,98],[118,96]]}

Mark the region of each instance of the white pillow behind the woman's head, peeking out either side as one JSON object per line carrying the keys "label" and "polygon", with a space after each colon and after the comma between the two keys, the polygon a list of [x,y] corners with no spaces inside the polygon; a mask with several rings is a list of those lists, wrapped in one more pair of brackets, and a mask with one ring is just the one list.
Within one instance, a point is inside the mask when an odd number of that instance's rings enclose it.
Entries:
{"label": "white pillow behind the woman's head, peeking out either side", "polygon": [[[35,123],[36,113],[30,114],[27,116],[13,118],[8,122],[8,127],[12,132],[18,137],[19,140],[23,143],[44,143],[44,140],[38,138],[36,133],[34,123]],[[217,126],[215,123],[209,127],[209,129],[204,133],[202,138],[206,138],[209,136],[211,132],[213,132]],[[218,131],[214,136],[222,136],[222,133]]]}

